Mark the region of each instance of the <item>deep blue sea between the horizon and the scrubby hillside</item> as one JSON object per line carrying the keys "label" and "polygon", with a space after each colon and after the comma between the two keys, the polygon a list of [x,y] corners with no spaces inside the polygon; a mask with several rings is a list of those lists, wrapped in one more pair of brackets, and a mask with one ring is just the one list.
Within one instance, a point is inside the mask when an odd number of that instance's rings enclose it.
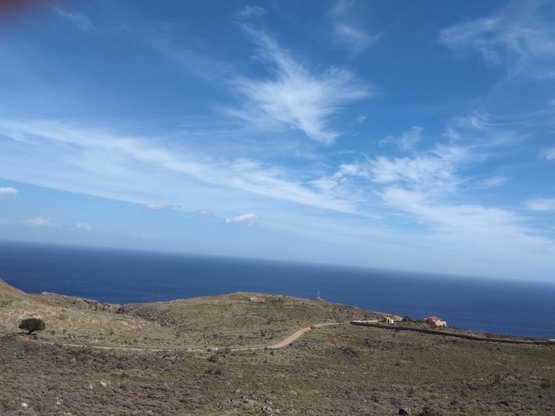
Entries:
{"label": "deep blue sea between the horizon and the scrubby hillside", "polygon": [[483,332],[555,338],[555,283],[137,250],[0,242],[0,279],[110,303],[237,291],[316,297]]}

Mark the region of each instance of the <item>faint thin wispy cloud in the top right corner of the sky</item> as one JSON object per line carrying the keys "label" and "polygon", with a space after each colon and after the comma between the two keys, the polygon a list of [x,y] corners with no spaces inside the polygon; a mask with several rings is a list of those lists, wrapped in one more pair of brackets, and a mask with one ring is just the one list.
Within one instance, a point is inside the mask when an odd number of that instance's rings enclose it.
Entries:
{"label": "faint thin wispy cloud in the top right corner of the sky", "polygon": [[[544,18],[549,2],[513,1],[484,18],[440,32],[440,42],[461,52],[479,52],[488,64],[529,71],[538,78],[555,76],[555,28]],[[548,13],[548,10],[547,10]]]}

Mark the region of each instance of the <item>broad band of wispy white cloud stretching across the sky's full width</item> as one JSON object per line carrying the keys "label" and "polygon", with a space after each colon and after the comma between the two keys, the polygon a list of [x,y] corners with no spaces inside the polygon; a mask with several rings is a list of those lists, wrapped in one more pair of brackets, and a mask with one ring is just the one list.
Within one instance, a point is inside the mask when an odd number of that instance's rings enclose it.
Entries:
{"label": "broad band of wispy white cloud stretching across the sky's full width", "polygon": [[[466,133],[454,132],[466,141]],[[382,155],[343,163],[335,174],[332,170],[325,176],[316,174],[321,171],[287,171],[249,158],[205,157],[183,146],[174,146],[170,152],[161,139],[108,133],[90,126],[3,120],[0,133],[0,141],[17,137],[13,146],[24,156],[14,161],[0,153],[0,177],[144,205],[149,201],[175,201],[186,212],[199,204],[219,207],[221,215],[228,217],[228,224],[256,223],[260,215],[265,218],[261,223],[265,228],[318,240],[341,240],[372,248],[376,253],[385,250],[381,245],[387,245],[388,252],[393,253],[401,244],[402,250],[415,255],[417,259],[411,263],[415,265],[425,254],[422,247],[433,248],[433,253],[441,249],[446,255],[452,249],[461,259],[482,256],[487,260],[484,264],[490,264],[492,258],[501,261],[507,253],[522,259],[530,256],[526,261],[544,264],[548,263],[547,257],[536,258],[533,253],[548,252],[552,247],[551,240],[536,238],[542,235],[540,231],[521,225],[524,220],[517,214],[486,204],[456,204],[451,200],[453,195],[465,198],[453,192],[463,181],[461,169],[467,163],[483,160],[472,153],[477,149],[451,143],[451,139],[408,158]],[[443,137],[437,140],[446,142]],[[342,157],[356,156],[343,153]],[[325,169],[333,167],[330,163]],[[380,214],[373,211],[377,206]],[[307,210],[309,207],[314,210]],[[235,217],[237,212],[251,209],[257,214]],[[326,217],[331,211],[340,216],[333,220]],[[400,215],[425,231],[403,230]],[[485,224],[480,235],[490,233],[490,238],[482,242],[465,232],[465,224],[470,224],[468,229],[472,230],[480,221]],[[502,227],[499,235],[496,225]],[[379,243],[371,244],[369,235],[379,236]],[[499,247],[506,251],[499,252]],[[376,261],[379,263],[379,259]],[[470,267],[463,270],[473,273]]]}

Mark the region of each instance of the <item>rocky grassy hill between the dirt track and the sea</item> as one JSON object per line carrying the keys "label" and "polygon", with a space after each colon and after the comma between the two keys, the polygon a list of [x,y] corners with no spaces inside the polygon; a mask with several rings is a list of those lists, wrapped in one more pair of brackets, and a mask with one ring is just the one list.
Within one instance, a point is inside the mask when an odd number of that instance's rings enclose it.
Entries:
{"label": "rocky grassy hill between the dirt track and the sea", "polygon": [[[266,302],[249,302],[252,296]],[[321,300],[233,293],[171,302],[112,305],[52,293],[26,294],[0,280],[0,327],[23,318],[47,324],[48,342],[137,348],[259,347],[314,323],[371,319],[380,314]]]}

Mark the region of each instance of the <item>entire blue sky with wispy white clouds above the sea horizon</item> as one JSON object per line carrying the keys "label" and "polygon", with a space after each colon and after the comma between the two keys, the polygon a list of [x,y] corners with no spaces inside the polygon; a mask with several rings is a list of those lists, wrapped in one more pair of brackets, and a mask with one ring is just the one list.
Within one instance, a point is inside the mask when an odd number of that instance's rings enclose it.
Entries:
{"label": "entire blue sky with wispy white clouds above the sea horizon", "polygon": [[553,2],[0,13],[0,239],[555,278]]}

